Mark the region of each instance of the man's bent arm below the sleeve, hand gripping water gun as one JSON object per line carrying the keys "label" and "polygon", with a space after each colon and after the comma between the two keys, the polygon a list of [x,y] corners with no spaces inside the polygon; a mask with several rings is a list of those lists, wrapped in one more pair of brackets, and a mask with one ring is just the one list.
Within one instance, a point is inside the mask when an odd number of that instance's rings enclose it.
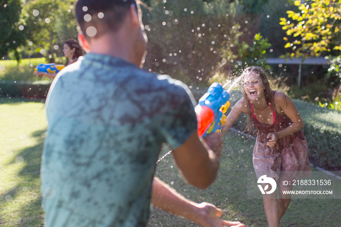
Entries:
{"label": "man's bent arm below the sleeve, hand gripping water gun", "polygon": [[219,169],[218,156],[221,156],[222,144],[220,133],[211,133],[204,140],[193,132],[185,143],[173,150],[175,163],[189,184],[205,189],[213,183]]}

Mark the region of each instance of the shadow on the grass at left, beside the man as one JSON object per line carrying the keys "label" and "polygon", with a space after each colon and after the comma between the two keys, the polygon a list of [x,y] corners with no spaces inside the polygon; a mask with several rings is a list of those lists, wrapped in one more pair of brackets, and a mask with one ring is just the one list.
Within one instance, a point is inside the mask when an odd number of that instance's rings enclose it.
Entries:
{"label": "shadow on the grass at left, beside the man", "polygon": [[[17,185],[4,192],[6,201],[0,203],[0,210],[4,210],[16,203],[19,212],[0,217],[1,226],[38,227],[43,226],[44,212],[41,208],[40,195],[40,161],[43,148],[45,130],[33,132],[32,137],[37,144],[27,147],[17,153],[8,165],[22,165],[17,174]],[[23,163],[21,163],[23,160]],[[21,163],[21,164],[19,164]],[[10,196],[8,196],[10,195]],[[7,224],[7,225],[6,225]]]}

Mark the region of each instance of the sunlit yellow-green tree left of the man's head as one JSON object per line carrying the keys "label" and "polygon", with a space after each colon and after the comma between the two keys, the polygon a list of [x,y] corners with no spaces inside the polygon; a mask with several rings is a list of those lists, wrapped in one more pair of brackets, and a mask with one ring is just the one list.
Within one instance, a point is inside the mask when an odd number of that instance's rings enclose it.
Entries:
{"label": "sunlit yellow-green tree left of the man's head", "polygon": [[72,0],[33,0],[23,8],[22,20],[28,44],[53,62],[63,49],[64,41],[76,38],[76,20]]}

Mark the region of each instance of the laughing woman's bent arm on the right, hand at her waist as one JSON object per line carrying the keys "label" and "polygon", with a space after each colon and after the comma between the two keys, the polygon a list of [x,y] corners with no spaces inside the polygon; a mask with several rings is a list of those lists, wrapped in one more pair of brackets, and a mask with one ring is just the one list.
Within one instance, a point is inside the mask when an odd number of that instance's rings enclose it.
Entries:
{"label": "laughing woman's bent arm on the right, hand at her waist", "polygon": [[281,92],[277,92],[275,94],[275,105],[278,114],[287,115],[292,121],[292,124],[281,131],[269,133],[267,135],[267,138],[269,139],[267,145],[269,147],[274,147],[276,141],[279,138],[293,134],[303,128],[303,119],[301,117],[301,114],[298,112],[295,104],[292,102],[289,96]]}

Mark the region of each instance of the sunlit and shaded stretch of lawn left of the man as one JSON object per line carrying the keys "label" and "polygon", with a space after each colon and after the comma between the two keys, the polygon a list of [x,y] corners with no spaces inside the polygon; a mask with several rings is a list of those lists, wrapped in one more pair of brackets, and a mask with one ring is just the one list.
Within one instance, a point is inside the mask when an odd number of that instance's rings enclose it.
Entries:
{"label": "sunlit and shaded stretch of lawn left of the man", "polygon": [[43,103],[0,98],[0,226],[42,226]]}

